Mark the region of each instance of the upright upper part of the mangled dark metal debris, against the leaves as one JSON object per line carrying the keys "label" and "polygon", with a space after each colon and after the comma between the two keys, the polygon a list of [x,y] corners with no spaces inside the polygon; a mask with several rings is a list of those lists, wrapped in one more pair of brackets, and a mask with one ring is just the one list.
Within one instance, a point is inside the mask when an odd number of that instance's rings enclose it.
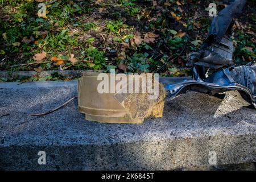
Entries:
{"label": "upright upper part of the mangled dark metal debris, against the leaves", "polygon": [[188,66],[199,65],[219,69],[234,64],[232,61],[233,43],[230,40],[232,21],[235,15],[241,13],[245,3],[246,0],[236,0],[213,18],[207,38],[199,51],[191,53]]}

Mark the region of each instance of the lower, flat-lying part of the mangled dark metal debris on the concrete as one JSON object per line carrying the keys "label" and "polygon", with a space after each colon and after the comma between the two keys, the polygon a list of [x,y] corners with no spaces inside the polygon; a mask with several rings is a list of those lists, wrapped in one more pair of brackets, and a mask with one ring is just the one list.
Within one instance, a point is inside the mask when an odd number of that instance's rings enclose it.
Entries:
{"label": "lower, flat-lying part of the mangled dark metal debris on the concrete", "polygon": [[193,68],[194,80],[179,84],[167,85],[167,96],[176,97],[189,90],[214,95],[217,93],[238,90],[242,98],[256,109],[256,63],[220,69],[204,80],[201,79],[196,67]]}

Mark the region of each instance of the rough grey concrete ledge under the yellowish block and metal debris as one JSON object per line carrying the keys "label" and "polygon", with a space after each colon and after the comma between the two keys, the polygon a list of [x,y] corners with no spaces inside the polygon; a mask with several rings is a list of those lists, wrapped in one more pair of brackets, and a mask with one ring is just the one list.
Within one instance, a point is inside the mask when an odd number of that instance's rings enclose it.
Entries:
{"label": "rough grey concrete ledge under the yellowish block and metal debris", "polygon": [[[162,118],[140,125],[85,121],[77,100],[30,116],[76,95],[76,81],[1,83],[0,169],[255,169],[256,111],[236,92],[224,100],[183,94],[166,102]],[[38,164],[39,151],[46,151],[46,165]],[[209,151],[216,152],[216,166]]]}

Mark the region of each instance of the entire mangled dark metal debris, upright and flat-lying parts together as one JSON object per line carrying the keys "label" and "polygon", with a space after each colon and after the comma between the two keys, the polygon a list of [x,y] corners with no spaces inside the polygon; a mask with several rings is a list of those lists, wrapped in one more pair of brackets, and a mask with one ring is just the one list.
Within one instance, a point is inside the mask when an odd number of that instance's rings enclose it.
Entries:
{"label": "entire mangled dark metal debris, upright and flat-lying parts together", "polygon": [[[189,90],[210,95],[238,90],[242,98],[256,109],[256,63],[233,67],[233,43],[229,39],[232,19],[241,13],[245,3],[245,0],[233,1],[213,19],[203,46],[198,52],[191,53],[188,59],[187,65],[193,67],[194,80],[167,85],[167,97],[176,97]],[[206,71],[213,73],[208,76]]]}

